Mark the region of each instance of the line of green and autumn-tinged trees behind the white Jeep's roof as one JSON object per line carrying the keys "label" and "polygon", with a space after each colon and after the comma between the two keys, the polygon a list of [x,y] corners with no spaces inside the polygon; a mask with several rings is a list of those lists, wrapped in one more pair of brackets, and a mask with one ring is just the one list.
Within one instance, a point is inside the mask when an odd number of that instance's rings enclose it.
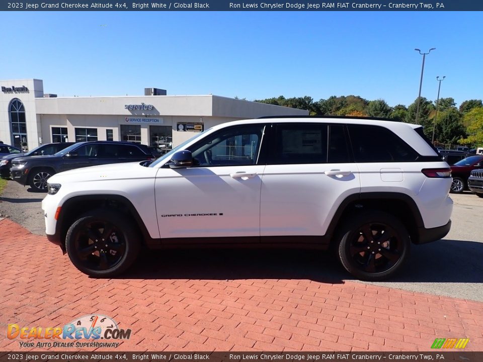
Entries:
{"label": "line of green and autumn-tinged trees behind the white Jeep's roof", "polygon": [[[418,99],[408,107],[401,104],[390,107],[384,100],[368,101],[359,96],[332,96],[319,101],[313,101],[308,96],[280,96],[255,102],[308,110],[311,116],[381,117],[413,124],[418,106]],[[470,148],[483,146],[481,100],[464,101],[457,108],[453,98],[440,98],[437,114],[436,103],[420,98],[418,124],[424,126],[424,133],[429,139],[432,138],[434,128],[435,144],[462,144]]]}

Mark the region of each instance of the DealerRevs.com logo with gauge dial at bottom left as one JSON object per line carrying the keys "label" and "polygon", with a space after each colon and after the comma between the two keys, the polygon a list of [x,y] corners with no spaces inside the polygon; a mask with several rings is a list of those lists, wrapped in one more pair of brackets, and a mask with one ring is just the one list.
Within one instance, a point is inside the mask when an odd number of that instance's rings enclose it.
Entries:
{"label": "DealerRevs.com logo with gauge dial at bottom left", "polygon": [[[122,340],[131,337],[131,329],[121,329],[116,321],[108,316],[90,314],[74,319],[63,327],[25,327],[9,324],[7,338],[20,338],[20,347],[117,347],[119,342],[98,342]],[[39,340],[36,343],[33,340]],[[81,342],[81,340],[94,340]]]}

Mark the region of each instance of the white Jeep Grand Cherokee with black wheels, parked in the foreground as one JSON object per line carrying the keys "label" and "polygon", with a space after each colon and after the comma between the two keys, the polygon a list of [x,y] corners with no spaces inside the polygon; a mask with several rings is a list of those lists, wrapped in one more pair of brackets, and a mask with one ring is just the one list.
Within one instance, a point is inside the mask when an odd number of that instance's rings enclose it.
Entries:
{"label": "white Jeep Grand Cherokee with black wheels, parked in the foreground", "polygon": [[355,277],[381,280],[410,244],[444,237],[451,174],[420,126],[356,118],[225,123],[156,161],[48,180],[49,240],[94,277],[149,248],[333,246]]}

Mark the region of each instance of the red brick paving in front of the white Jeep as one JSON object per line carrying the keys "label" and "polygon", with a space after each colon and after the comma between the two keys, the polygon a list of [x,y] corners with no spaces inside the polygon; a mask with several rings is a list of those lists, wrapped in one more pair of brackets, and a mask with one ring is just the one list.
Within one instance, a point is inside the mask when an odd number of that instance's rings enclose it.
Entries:
{"label": "red brick paving in front of the white Jeep", "polygon": [[415,351],[453,337],[469,338],[468,351],[483,350],[478,302],[357,282],[226,280],[229,270],[216,265],[197,266],[201,279],[160,278],[141,266],[125,278],[96,280],[45,237],[7,219],[0,255],[0,350],[28,350],[6,337],[9,323],[57,327],[92,313],[132,329],[118,350]]}

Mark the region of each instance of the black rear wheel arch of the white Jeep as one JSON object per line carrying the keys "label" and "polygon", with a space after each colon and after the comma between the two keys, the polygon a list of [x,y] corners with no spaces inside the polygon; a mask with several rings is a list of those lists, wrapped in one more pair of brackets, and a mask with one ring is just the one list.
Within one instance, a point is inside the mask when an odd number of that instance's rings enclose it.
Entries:
{"label": "black rear wheel arch of the white Jeep", "polygon": [[351,215],[366,210],[379,210],[397,217],[407,228],[411,241],[419,244],[419,228],[424,228],[423,218],[416,202],[406,194],[392,192],[368,192],[348,196],[340,204],[327,229],[327,235],[333,236]]}

